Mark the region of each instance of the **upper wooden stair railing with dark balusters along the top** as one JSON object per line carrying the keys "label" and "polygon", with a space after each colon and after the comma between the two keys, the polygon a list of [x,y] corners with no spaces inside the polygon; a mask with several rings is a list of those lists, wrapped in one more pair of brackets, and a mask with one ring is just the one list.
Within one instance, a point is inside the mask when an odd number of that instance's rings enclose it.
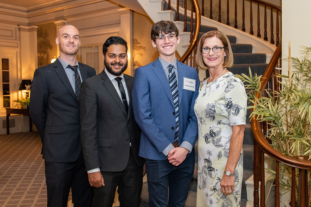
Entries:
{"label": "upper wooden stair railing with dark balusters along the top", "polygon": [[[199,3],[197,0],[193,0],[192,1],[192,5],[194,5],[195,7],[195,13],[196,16],[200,15],[200,12],[202,11],[202,16],[204,16],[205,11],[204,11],[204,0],[202,1],[202,9],[199,9]],[[207,1],[207,0],[205,0]],[[210,1],[210,15],[208,18],[213,19],[213,0],[209,0]],[[253,6],[255,6],[255,4],[257,4],[257,37],[261,38],[261,33],[260,31],[262,30],[264,33],[263,36],[263,40],[268,41],[268,37],[267,37],[267,7],[270,10],[270,43],[271,44],[276,44],[276,46],[279,45],[280,39],[281,39],[281,33],[280,33],[280,24],[281,24],[281,12],[282,9],[279,6],[276,6],[272,3],[269,2],[265,2],[262,0],[218,0],[218,22],[221,22],[221,2],[223,2],[223,4],[226,4],[226,25],[230,25],[230,11],[232,12],[234,10],[234,28],[238,28],[238,22],[242,22],[242,31],[246,31],[245,29],[245,2],[249,2],[249,9],[250,9],[250,14],[249,14],[249,19],[247,19],[247,21],[249,21],[249,34],[254,34],[253,31]],[[230,5],[233,5],[234,1],[234,7],[230,7]],[[171,1],[168,0],[168,10],[171,9]],[[187,16],[187,0],[183,0],[184,2],[184,9],[185,9],[185,18],[184,18],[184,22],[185,22],[185,29],[184,32],[187,32],[187,28],[186,28],[186,16]],[[196,2],[196,3],[194,3]],[[217,2],[217,0],[214,0],[214,2]],[[238,21],[238,10],[237,10],[237,5],[242,5],[242,16],[240,16],[239,18],[241,18]],[[260,8],[264,7],[264,12],[260,12]],[[192,6],[193,8],[193,6]],[[260,24],[260,16],[263,15],[264,16],[264,24],[261,25]],[[276,16],[276,20],[273,20],[273,16]],[[176,0],[176,21],[179,21],[179,0]],[[274,28],[274,25],[276,25],[276,28]],[[274,41],[274,34],[276,35],[276,41]]]}

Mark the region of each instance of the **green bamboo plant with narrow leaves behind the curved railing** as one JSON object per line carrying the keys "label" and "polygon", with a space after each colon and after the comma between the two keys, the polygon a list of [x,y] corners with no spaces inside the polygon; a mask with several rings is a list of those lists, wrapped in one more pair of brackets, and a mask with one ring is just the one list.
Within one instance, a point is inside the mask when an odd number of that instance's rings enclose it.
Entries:
{"label": "green bamboo plant with narrow leaves behind the curved railing", "polygon": [[[290,57],[291,68],[289,75],[278,75],[279,92],[266,92],[266,97],[256,97],[259,92],[261,76],[254,76],[249,69],[249,76],[237,75],[244,82],[248,91],[249,101],[253,103],[250,117],[258,116],[260,122],[268,124],[267,137],[271,145],[282,154],[293,156],[306,156],[311,158],[311,47],[303,47],[302,58]],[[267,169],[274,174],[275,171]],[[284,192],[291,188],[291,167],[280,163],[280,190]],[[311,173],[308,171],[308,192],[311,191]],[[272,176],[273,177],[273,176]],[[295,173],[296,188],[298,188],[299,173]],[[296,201],[298,199],[296,189]],[[311,196],[309,194],[309,203]]]}

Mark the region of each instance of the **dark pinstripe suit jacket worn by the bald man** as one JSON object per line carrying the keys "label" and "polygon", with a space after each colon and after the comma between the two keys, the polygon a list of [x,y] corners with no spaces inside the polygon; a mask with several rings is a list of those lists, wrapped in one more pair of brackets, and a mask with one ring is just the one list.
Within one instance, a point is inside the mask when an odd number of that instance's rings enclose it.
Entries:
{"label": "dark pinstripe suit jacket worn by the bald man", "polygon": [[[83,82],[95,69],[79,63]],[[73,162],[81,152],[79,102],[58,59],[35,70],[30,86],[30,116],[48,162]]]}

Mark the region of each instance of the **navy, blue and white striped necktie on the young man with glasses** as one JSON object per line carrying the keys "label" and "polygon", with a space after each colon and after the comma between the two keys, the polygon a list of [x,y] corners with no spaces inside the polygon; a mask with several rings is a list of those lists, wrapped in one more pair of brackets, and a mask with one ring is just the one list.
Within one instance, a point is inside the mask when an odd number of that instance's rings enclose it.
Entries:
{"label": "navy, blue and white striped necktie on the young man with glasses", "polygon": [[176,117],[176,125],[175,125],[175,137],[174,142],[178,142],[178,85],[176,74],[173,70],[173,65],[169,65],[169,86],[171,87],[171,92],[174,101],[174,108],[175,108],[175,117]]}

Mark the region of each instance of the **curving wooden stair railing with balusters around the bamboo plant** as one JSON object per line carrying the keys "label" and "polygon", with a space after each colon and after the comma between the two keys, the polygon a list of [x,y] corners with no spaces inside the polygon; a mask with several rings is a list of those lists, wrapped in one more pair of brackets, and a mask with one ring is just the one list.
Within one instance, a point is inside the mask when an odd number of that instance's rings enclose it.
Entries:
{"label": "curving wooden stair railing with balusters around the bamboo plant", "polygon": [[[276,70],[276,66],[280,61],[281,57],[281,42],[276,48],[271,61],[267,66],[267,70],[262,76],[261,79],[261,94],[257,93],[257,97],[263,95],[264,89],[267,88],[270,78],[276,82],[280,81],[276,78],[276,74],[280,74],[280,71]],[[273,86],[269,87],[270,92],[279,90],[279,85],[272,84]],[[264,169],[264,153],[276,160],[276,180],[275,180],[275,206],[280,206],[280,185],[279,185],[279,163],[283,163],[292,168],[292,178],[291,178],[291,207],[295,206],[295,169],[299,170],[299,177],[301,178],[300,189],[301,192],[298,206],[307,207],[309,206],[309,197],[308,197],[308,179],[307,179],[307,170],[311,170],[311,162],[307,161],[305,156],[294,156],[288,157],[283,155],[281,152],[274,149],[270,143],[267,141],[266,137],[263,134],[262,122],[258,121],[258,117],[254,116],[251,119],[251,126],[254,134],[254,206],[264,207],[265,206],[265,169]],[[259,179],[262,181],[260,184],[260,205],[259,205]]]}

